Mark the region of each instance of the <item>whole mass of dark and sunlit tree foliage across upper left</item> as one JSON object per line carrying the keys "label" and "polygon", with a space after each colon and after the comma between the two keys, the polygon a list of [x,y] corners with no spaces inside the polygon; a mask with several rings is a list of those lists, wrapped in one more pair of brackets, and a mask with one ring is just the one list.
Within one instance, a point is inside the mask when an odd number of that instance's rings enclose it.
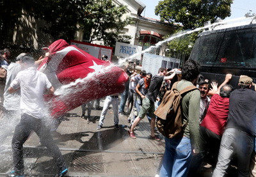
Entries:
{"label": "whole mass of dark and sunlit tree foliage across upper left", "polygon": [[25,12],[47,22],[42,31],[54,40],[72,40],[81,30],[108,45],[118,39],[127,42],[131,37],[120,37],[124,26],[131,24],[129,17],[123,19],[125,8],[111,0],[0,0],[0,43],[12,41],[13,30]]}

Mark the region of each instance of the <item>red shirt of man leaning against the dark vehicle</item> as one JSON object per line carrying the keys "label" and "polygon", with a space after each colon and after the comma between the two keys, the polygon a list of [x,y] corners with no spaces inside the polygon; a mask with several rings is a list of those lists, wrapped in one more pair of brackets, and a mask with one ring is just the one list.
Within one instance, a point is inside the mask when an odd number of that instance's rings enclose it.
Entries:
{"label": "red shirt of man leaning against the dark vehicle", "polygon": [[222,98],[218,94],[212,95],[211,102],[204,120],[200,126],[214,134],[222,135],[228,118],[229,98]]}

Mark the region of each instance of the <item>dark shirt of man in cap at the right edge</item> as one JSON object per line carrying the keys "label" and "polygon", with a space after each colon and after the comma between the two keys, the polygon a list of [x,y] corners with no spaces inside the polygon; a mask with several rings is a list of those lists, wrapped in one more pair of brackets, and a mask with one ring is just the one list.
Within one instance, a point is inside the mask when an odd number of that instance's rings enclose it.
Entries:
{"label": "dark shirt of man in cap at the right edge", "polygon": [[236,89],[229,99],[227,128],[237,128],[255,135],[256,92],[252,89]]}

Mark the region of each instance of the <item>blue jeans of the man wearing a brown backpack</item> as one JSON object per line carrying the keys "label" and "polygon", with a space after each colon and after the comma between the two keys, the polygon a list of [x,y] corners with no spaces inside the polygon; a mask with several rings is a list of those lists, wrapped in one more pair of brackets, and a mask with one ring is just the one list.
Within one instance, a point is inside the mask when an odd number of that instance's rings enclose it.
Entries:
{"label": "blue jeans of the man wearing a brown backpack", "polygon": [[188,137],[165,138],[163,164],[159,176],[186,176],[191,158],[191,142]]}

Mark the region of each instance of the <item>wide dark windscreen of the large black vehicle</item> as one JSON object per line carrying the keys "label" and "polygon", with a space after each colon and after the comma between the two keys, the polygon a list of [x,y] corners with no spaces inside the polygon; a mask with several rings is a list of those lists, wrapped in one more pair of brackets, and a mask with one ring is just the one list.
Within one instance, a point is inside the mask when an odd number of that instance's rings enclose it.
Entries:
{"label": "wide dark windscreen of the large black vehicle", "polygon": [[202,35],[190,58],[201,65],[256,66],[256,29]]}

